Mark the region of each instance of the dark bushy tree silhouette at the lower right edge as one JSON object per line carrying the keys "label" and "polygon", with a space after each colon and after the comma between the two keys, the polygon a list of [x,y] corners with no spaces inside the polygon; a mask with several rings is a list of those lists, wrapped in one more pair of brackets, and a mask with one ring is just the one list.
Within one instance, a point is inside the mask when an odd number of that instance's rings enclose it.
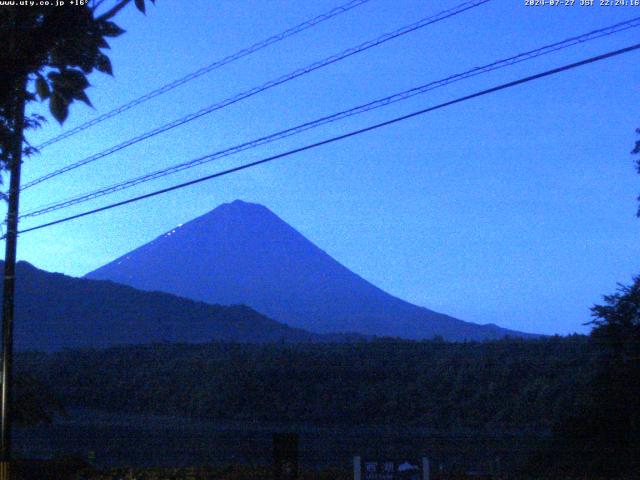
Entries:
{"label": "dark bushy tree silhouette at the lower right edge", "polygon": [[640,276],[592,308],[597,362],[584,402],[568,410],[542,459],[545,473],[636,478],[640,471]]}

